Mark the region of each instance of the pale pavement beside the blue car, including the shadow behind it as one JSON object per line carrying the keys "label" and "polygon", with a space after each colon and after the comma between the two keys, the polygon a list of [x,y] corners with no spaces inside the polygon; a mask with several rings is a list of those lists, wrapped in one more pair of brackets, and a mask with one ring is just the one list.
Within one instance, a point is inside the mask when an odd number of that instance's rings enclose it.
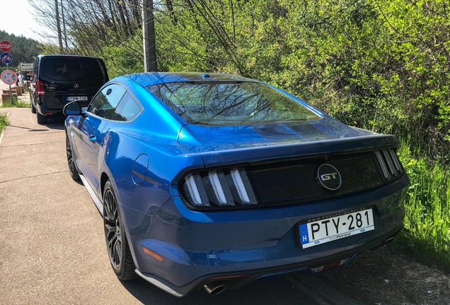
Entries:
{"label": "pale pavement beside the blue car, including the shadow behind it", "polygon": [[360,304],[318,277],[267,277],[241,289],[178,299],[144,280],[120,282],[103,225],[82,184],[69,176],[63,119],[36,123],[9,112],[0,138],[0,304]]}

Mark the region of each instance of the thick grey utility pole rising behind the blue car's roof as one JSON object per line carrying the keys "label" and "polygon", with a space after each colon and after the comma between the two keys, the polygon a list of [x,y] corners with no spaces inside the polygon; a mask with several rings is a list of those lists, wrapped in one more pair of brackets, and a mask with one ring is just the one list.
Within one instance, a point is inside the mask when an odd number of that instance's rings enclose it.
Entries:
{"label": "thick grey utility pole rising behind the blue car's roof", "polygon": [[142,6],[142,40],[144,41],[144,71],[158,71],[156,66],[155,18],[153,0],[144,0]]}

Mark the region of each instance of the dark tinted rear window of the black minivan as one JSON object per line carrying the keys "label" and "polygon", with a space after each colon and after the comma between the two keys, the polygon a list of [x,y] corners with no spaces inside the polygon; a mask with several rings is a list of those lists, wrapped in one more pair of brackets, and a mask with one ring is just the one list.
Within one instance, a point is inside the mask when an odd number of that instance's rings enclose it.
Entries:
{"label": "dark tinted rear window of the black minivan", "polygon": [[100,59],[71,56],[45,57],[42,62],[42,76],[67,82],[90,80],[98,82],[98,87],[108,80]]}

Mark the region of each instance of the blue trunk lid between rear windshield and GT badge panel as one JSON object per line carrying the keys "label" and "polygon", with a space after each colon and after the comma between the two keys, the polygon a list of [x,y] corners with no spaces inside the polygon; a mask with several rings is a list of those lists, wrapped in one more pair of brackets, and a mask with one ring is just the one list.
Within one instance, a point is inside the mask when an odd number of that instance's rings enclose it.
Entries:
{"label": "blue trunk lid between rear windshield and GT badge panel", "polygon": [[188,124],[180,131],[178,143],[200,153],[211,167],[375,150],[396,146],[396,139],[323,116],[317,121],[253,126]]}

